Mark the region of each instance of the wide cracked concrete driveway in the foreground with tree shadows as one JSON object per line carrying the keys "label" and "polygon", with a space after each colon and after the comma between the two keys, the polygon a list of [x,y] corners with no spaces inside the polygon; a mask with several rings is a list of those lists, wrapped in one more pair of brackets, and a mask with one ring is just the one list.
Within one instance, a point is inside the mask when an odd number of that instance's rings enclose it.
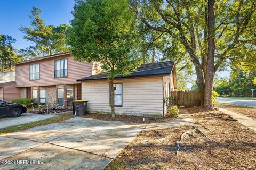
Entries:
{"label": "wide cracked concrete driveway in the foreground with tree shadows", "polygon": [[76,117],[4,134],[0,169],[104,169],[146,125]]}

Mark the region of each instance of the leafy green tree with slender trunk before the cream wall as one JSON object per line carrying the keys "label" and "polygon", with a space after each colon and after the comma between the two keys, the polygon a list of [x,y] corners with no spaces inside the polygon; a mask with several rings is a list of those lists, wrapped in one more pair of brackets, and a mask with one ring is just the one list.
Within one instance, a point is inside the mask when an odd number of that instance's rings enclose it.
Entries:
{"label": "leafy green tree with slender trunk before the cream wall", "polygon": [[115,75],[129,75],[141,63],[135,16],[127,0],[77,1],[73,16],[67,31],[71,55],[78,61],[99,62],[108,72],[114,117]]}

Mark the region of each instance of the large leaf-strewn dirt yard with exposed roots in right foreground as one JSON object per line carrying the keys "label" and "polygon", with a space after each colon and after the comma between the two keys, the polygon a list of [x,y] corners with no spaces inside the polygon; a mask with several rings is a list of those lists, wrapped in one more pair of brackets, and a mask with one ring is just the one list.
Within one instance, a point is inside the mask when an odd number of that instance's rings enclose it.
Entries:
{"label": "large leaf-strewn dirt yard with exposed roots in right foreground", "polygon": [[142,132],[107,169],[256,169],[254,131],[196,109],[189,109],[195,126]]}

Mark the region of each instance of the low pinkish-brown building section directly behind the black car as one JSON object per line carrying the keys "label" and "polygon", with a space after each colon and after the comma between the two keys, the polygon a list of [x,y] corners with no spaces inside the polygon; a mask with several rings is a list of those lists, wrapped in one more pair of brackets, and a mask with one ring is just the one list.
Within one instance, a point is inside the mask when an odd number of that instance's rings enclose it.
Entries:
{"label": "low pinkish-brown building section directly behind the black car", "polygon": [[20,98],[20,89],[16,88],[15,81],[0,83],[0,100],[11,102]]}

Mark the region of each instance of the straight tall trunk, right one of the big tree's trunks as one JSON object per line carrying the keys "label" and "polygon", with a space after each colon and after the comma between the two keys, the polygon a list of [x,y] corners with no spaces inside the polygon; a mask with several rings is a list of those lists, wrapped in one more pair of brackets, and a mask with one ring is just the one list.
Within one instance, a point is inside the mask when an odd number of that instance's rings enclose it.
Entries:
{"label": "straight tall trunk, right one of the big tree's trunks", "polygon": [[212,104],[212,89],[214,77],[214,52],[215,52],[215,0],[208,0],[208,48],[207,48],[207,64],[205,73],[205,90],[204,90],[204,107],[209,110],[214,110]]}

